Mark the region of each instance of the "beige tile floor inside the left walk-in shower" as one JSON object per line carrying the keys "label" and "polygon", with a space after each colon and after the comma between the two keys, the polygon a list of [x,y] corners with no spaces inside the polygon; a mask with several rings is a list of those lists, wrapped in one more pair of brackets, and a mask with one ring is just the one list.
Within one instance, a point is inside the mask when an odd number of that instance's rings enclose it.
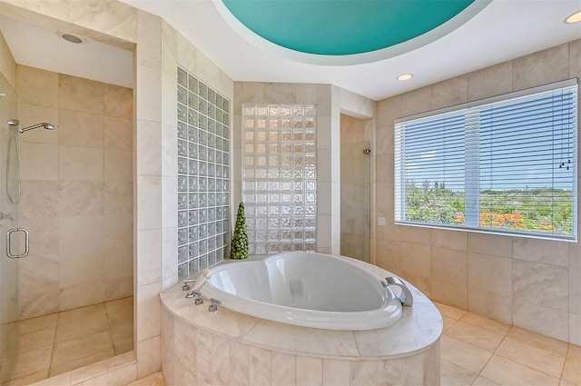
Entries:
{"label": "beige tile floor inside the left walk-in shower", "polygon": [[133,350],[133,297],[20,321],[5,385],[25,385]]}

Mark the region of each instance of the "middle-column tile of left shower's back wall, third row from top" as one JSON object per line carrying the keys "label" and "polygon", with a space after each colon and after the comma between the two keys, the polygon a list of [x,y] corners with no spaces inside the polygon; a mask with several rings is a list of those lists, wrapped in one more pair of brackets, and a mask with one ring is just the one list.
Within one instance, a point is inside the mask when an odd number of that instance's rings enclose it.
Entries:
{"label": "middle-column tile of left shower's back wall, third row from top", "polygon": [[103,181],[103,149],[58,146],[58,172],[64,181]]}

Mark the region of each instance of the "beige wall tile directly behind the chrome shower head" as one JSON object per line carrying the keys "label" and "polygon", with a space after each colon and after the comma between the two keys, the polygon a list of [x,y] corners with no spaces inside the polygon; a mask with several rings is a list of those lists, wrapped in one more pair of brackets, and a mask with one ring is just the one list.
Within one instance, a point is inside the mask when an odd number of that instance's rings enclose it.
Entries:
{"label": "beige wall tile directly behind the chrome shower head", "polygon": [[46,122],[54,124],[56,130],[31,130],[20,135],[20,142],[34,142],[38,144],[58,144],[60,132],[59,111],[55,107],[37,104],[20,104],[20,127]]}

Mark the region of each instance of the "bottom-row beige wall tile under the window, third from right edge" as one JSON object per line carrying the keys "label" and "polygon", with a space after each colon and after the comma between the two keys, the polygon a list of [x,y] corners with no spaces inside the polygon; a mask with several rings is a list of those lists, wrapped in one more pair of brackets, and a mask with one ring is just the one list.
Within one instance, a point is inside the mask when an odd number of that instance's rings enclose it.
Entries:
{"label": "bottom-row beige wall tile under the window, third from right edge", "polygon": [[498,295],[468,288],[468,311],[510,324],[512,323],[512,293]]}

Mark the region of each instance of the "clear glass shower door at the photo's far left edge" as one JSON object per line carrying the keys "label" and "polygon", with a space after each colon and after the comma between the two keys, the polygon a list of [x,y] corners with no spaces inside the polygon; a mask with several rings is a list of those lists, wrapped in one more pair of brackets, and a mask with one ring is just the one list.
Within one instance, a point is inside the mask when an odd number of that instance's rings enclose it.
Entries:
{"label": "clear glass shower door at the photo's far left edge", "polygon": [[[18,260],[6,256],[5,234],[18,226],[19,177],[17,138],[9,120],[18,119],[18,95],[0,74],[0,384],[12,378],[18,351]],[[11,193],[7,190],[10,186]]]}

